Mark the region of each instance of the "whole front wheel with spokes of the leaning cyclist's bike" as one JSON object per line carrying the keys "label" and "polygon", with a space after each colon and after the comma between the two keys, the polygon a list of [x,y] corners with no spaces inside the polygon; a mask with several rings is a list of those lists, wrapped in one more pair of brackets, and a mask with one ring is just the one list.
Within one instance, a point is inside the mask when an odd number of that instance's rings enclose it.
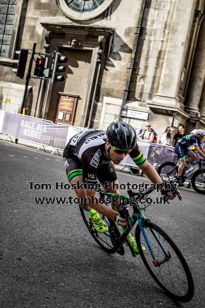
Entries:
{"label": "whole front wheel with spokes of the leaning cyclist's bike", "polygon": [[[179,248],[160,227],[152,222],[145,223],[144,231],[149,244],[139,225],[136,227],[135,236],[140,256],[149,273],[171,298],[181,302],[190,301],[194,295],[194,282],[189,266]],[[144,252],[141,244],[146,247]]]}

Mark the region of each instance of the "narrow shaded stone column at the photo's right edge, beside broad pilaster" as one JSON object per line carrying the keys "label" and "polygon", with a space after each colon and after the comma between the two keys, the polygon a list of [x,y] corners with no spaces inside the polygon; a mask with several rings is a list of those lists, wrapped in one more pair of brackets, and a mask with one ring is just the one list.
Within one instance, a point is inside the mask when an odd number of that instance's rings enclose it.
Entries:
{"label": "narrow shaded stone column at the photo's right edge, beside broad pilaster", "polygon": [[[203,17],[204,18],[204,17]],[[190,77],[189,92],[185,110],[195,117],[200,118],[199,104],[205,79],[205,21],[203,20],[198,36],[195,59]],[[204,101],[205,103],[205,101]],[[204,112],[205,113],[205,112]],[[198,119],[197,119],[198,118]]]}

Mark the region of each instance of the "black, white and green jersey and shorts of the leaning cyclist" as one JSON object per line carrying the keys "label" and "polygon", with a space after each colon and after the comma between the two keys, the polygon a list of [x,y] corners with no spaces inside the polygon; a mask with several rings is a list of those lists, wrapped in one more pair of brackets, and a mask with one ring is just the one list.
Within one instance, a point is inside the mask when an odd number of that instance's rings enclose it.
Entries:
{"label": "black, white and green jersey and shorts of the leaning cyclist", "polygon": [[[103,130],[85,128],[70,139],[64,150],[64,162],[69,181],[75,176],[83,175],[85,184],[96,184],[97,178],[99,179],[99,169],[100,173],[105,173],[104,179],[107,175],[108,181],[110,180],[111,172],[115,172],[115,169],[106,155],[106,138],[106,132]],[[138,145],[129,155],[137,165],[146,161]]]}

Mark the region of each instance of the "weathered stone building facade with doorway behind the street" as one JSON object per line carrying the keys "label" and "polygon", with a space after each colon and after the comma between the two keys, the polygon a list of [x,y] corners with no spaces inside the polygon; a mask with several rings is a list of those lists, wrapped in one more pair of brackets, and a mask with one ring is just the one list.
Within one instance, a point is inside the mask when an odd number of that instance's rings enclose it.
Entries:
{"label": "weathered stone building facade with doorway behind the street", "polygon": [[60,121],[65,113],[64,123],[72,114],[72,125],[101,129],[120,118],[139,130],[149,118],[159,135],[179,123],[205,128],[204,0],[0,4],[0,108],[19,111],[25,79],[12,72],[15,50],[36,42],[68,63],[64,82],[30,79],[28,114]]}

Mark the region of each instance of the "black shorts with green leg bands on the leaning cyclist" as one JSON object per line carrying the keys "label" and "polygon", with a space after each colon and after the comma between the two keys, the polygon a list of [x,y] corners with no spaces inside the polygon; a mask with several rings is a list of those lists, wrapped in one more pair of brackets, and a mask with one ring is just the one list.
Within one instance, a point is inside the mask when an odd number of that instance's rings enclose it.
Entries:
{"label": "black shorts with green leg bands on the leaning cyclist", "polygon": [[[72,157],[67,150],[64,151],[64,165],[69,182],[76,176],[83,176],[81,162],[77,158]],[[117,174],[113,162],[109,161],[100,165],[96,171],[96,177],[101,184],[116,181]]]}

